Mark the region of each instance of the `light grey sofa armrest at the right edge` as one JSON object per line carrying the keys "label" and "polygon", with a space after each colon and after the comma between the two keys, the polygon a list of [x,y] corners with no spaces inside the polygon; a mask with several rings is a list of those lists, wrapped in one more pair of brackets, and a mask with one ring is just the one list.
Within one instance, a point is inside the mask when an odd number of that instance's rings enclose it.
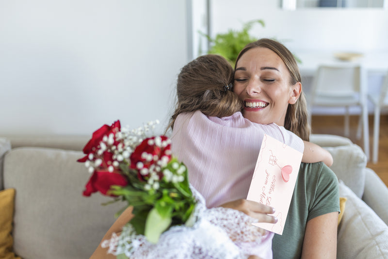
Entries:
{"label": "light grey sofa armrest at the right edge", "polygon": [[388,224],[387,197],[387,186],[372,169],[366,168],[365,189],[362,199],[386,224]]}

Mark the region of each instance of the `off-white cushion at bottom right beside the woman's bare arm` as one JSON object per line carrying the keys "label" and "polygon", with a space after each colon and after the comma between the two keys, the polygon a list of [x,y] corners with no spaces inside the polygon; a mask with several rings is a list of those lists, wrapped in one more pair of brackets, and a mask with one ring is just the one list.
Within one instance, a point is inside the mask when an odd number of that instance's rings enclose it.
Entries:
{"label": "off-white cushion at bottom right beside the woman's bare arm", "polygon": [[337,258],[386,258],[388,226],[343,181],[339,195],[347,201],[338,228]]}

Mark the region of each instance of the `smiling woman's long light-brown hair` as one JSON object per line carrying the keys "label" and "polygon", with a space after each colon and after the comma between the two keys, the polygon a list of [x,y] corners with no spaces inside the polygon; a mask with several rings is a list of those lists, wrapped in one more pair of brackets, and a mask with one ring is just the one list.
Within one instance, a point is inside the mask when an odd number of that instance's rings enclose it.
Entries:
{"label": "smiling woman's long light-brown hair", "polygon": [[[262,38],[255,42],[248,43],[239,53],[236,59],[236,65],[245,52],[258,47],[272,50],[283,60],[291,75],[291,86],[295,85],[297,82],[302,83],[299,68],[293,54],[283,44],[273,39]],[[303,90],[296,103],[288,105],[284,127],[303,140],[309,140],[311,128],[308,122],[307,101]]]}

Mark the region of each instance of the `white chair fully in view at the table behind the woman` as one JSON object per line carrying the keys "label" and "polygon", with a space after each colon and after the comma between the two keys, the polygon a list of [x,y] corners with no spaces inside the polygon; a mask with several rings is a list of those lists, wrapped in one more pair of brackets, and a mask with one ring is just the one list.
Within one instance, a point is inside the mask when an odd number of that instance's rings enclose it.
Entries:
{"label": "white chair fully in view at the table behind the woman", "polygon": [[364,152],[369,159],[369,125],[366,91],[366,72],[354,64],[320,65],[315,73],[311,95],[308,98],[310,108],[313,106],[344,107],[345,128],[344,135],[349,137],[349,107],[361,108],[357,129],[357,138],[363,132]]}

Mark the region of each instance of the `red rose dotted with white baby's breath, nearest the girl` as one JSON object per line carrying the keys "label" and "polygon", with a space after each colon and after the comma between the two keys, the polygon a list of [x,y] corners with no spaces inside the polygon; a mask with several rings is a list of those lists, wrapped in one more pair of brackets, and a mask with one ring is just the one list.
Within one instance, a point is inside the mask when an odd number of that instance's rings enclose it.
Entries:
{"label": "red rose dotted with white baby's breath, nearest the girl", "polygon": [[[158,166],[157,162],[163,156],[166,156],[168,161],[171,159],[171,144],[169,139],[165,136],[146,138],[130,155],[130,168],[139,170],[139,162],[141,162],[142,168],[147,170],[152,169],[153,165],[155,168]],[[138,174],[140,179],[144,179],[146,175]]]}

